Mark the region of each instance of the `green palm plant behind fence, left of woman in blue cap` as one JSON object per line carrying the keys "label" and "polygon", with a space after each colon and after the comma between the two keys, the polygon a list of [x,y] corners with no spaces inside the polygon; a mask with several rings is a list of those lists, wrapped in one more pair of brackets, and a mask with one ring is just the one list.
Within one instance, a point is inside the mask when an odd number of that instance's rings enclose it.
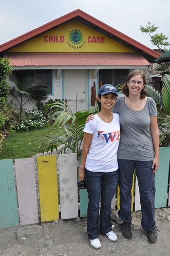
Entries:
{"label": "green palm plant behind fence, left of woman in blue cap", "polygon": [[95,104],[95,106],[89,110],[82,110],[73,114],[67,103],[64,105],[64,103],[56,102],[49,105],[47,112],[52,111],[53,108],[60,109],[54,111],[50,117],[50,120],[56,117],[53,124],[53,128],[56,130],[56,135],[54,137],[46,136],[49,139],[39,146],[39,152],[53,152],[53,150],[56,149],[57,154],[62,154],[69,148],[73,153],[77,154],[78,160],[82,152],[83,129],[86,118],[92,113],[98,113],[98,107]]}

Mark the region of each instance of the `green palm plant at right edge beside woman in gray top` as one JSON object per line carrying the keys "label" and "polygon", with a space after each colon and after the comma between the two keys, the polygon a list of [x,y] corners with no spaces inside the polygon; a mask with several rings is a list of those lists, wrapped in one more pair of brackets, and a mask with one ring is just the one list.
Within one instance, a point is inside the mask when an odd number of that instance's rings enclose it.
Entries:
{"label": "green palm plant at right edge beside woman in gray top", "polygon": [[165,75],[162,94],[146,85],[149,96],[154,98],[158,112],[158,128],[160,129],[160,144],[170,146],[170,76]]}

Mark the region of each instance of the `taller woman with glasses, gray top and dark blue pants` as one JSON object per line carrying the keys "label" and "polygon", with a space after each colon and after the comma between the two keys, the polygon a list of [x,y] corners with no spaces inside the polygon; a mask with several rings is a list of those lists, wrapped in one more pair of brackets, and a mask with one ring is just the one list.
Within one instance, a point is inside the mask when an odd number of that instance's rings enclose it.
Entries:
{"label": "taller woman with glasses, gray top and dark blue pants", "polygon": [[[132,238],[131,189],[134,169],[138,178],[141,225],[151,243],[157,240],[155,227],[154,197],[155,172],[159,166],[159,132],[154,100],[147,97],[145,73],[133,70],[122,92],[125,97],[117,98],[113,113],[120,117],[120,143],[117,152],[119,165],[121,226],[125,238]],[[91,119],[91,118],[89,118]]]}

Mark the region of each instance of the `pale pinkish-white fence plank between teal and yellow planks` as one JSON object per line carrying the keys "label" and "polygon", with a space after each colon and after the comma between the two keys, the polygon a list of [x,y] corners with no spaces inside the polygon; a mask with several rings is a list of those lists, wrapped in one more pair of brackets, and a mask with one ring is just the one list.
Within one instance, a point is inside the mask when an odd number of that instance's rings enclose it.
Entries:
{"label": "pale pinkish-white fence plank between teal and yellow planks", "polygon": [[15,159],[20,225],[38,223],[34,158]]}

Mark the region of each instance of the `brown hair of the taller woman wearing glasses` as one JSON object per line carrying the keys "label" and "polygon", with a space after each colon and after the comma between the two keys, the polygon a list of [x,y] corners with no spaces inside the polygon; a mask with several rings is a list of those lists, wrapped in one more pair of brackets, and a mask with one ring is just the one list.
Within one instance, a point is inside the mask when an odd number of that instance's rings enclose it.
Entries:
{"label": "brown hair of the taller woman wearing glasses", "polygon": [[[121,92],[124,94],[124,95],[126,95],[127,97],[129,96],[129,88],[128,88],[128,82],[129,82],[129,80],[132,78],[132,77],[134,77],[134,76],[136,76],[136,75],[141,75],[141,77],[142,77],[142,79],[143,79],[143,82],[144,82],[144,84],[146,85],[146,79],[145,79],[145,73],[144,73],[144,71],[143,70],[139,70],[139,69],[134,69],[129,75],[128,75],[128,77],[127,77],[127,79],[126,79],[126,82],[125,82],[125,84],[123,85],[123,87],[122,87],[122,89],[121,89]],[[145,90],[145,85],[144,85],[144,87],[143,87],[143,89],[142,89],[142,91],[141,91],[141,93],[140,93],[140,98],[142,99],[142,98],[145,98],[146,96],[147,96],[147,91]]]}

